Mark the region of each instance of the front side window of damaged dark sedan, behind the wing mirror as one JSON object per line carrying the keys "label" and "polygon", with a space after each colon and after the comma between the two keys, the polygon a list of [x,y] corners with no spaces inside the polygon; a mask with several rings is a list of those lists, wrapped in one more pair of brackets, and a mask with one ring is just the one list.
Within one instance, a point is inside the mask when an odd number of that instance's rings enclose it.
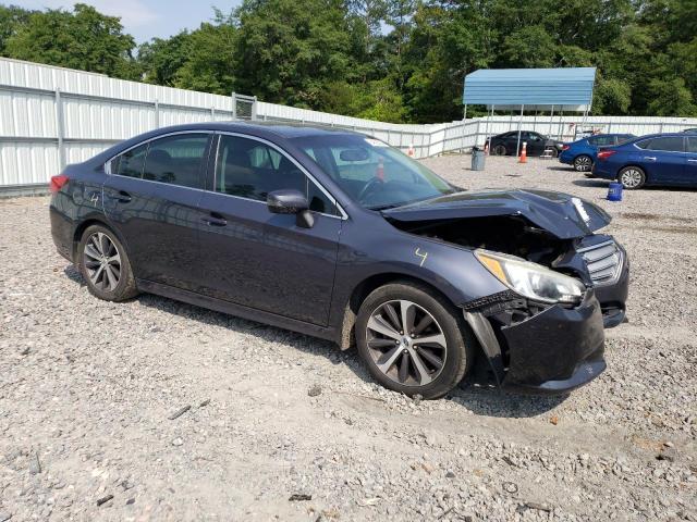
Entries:
{"label": "front side window of damaged dark sedan, behind the wing mirror", "polygon": [[255,139],[221,135],[216,158],[215,190],[266,201],[269,192],[295,189],[309,209],[335,214],[335,206],[289,158]]}

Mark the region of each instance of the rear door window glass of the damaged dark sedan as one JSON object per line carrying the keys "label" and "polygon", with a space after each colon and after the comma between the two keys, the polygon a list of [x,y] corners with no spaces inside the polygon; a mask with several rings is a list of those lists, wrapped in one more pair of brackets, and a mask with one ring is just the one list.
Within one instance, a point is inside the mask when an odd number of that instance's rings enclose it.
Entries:
{"label": "rear door window glass of the damaged dark sedan", "polygon": [[203,188],[200,173],[207,142],[206,134],[178,134],[150,141],[143,178]]}

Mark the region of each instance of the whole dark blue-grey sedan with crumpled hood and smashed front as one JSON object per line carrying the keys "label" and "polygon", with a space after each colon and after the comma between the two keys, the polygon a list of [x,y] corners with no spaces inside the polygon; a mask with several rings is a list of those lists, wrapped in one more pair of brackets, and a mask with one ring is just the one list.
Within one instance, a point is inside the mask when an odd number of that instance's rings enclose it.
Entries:
{"label": "whole dark blue-grey sedan with crumpled hood and smashed front", "polygon": [[[606,368],[628,263],[610,216],[539,190],[466,192],[382,141],[236,123],[144,134],[51,179],[58,251],[88,290],[159,294],[355,339],[382,385],[426,398],[475,363],[564,393]],[[86,319],[87,320],[87,319]]]}

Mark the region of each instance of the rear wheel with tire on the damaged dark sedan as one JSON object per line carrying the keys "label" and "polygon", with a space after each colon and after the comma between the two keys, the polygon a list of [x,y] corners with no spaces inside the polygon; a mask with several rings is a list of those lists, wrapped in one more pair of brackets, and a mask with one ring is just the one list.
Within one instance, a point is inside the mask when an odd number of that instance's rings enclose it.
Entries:
{"label": "rear wheel with tire on the damaged dark sedan", "polygon": [[91,225],[85,229],[76,260],[93,296],[105,301],[123,301],[138,294],[126,250],[106,226]]}

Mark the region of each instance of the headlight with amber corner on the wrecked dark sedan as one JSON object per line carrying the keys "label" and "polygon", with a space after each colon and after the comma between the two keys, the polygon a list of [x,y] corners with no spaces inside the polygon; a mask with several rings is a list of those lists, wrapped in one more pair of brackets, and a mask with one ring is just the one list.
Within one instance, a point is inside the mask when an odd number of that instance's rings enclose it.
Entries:
{"label": "headlight with amber corner on the wrecked dark sedan", "polygon": [[481,249],[475,256],[505,286],[536,301],[576,303],[586,291],[580,281],[515,256]]}

